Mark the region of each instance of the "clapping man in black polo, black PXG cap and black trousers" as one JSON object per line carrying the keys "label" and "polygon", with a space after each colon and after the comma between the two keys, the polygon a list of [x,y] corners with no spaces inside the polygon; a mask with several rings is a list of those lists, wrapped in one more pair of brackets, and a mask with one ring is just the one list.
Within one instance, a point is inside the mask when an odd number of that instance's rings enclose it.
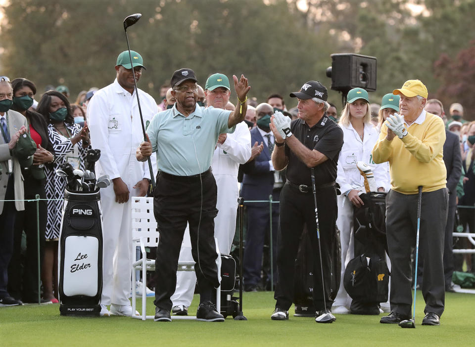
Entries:
{"label": "clapping man in black polo, black PXG cap and black trousers", "polygon": [[[342,130],[325,114],[327,88],[318,81],[305,83],[299,92],[290,93],[298,98],[298,119],[290,121],[276,112],[271,118],[271,130],[276,146],[272,163],[276,170],[287,167],[287,181],[281,192],[280,228],[278,234],[278,282],[274,298],[276,309],[273,320],[288,319],[293,300],[293,276],[300,235],[307,225],[314,264],[313,273],[319,274],[320,260],[315,221],[315,204],[311,186],[310,168],[315,169],[317,207],[319,215],[322,265],[325,293],[322,293],[321,276],[313,276],[313,304],[316,317],[330,310],[330,259],[331,244],[336,232],[336,164],[343,145]],[[327,307],[324,305],[323,296]],[[316,320],[318,322],[318,320]]]}

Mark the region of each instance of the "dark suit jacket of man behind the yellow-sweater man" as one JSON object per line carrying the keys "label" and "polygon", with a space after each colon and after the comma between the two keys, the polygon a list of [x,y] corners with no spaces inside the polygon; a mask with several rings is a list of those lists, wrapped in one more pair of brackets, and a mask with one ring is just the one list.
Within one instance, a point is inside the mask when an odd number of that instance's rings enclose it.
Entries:
{"label": "dark suit jacket of man behind the yellow-sweater man", "polygon": [[462,155],[459,136],[445,130],[444,163],[447,169],[447,188],[449,189],[449,206],[455,206],[457,183],[462,174]]}

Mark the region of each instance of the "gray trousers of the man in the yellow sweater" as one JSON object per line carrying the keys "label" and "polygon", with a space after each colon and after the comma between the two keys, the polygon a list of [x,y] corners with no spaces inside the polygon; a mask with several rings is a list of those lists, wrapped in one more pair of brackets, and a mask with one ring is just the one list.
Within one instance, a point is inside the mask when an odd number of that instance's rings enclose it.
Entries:
{"label": "gray trousers of the man in the yellow sweater", "polygon": [[[386,196],[386,236],[391,260],[391,311],[411,317],[411,254],[416,247],[418,194],[390,190]],[[448,210],[447,189],[422,194],[419,255],[424,257],[422,294],[424,312],[441,316],[445,304],[444,233]]]}

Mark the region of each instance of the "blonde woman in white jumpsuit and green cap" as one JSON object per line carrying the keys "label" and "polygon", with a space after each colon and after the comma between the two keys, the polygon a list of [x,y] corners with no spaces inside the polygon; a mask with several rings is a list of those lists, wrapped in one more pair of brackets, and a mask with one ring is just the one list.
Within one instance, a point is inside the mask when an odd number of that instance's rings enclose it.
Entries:
{"label": "blonde woman in white jumpsuit and green cap", "polygon": [[[378,190],[384,190],[385,176],[380,165],[373,161],[371,151],[378,140],[378,130],[371,123],[368,92],[362,88],[354,88],[348,92],[345,108],[341,112],[338,125],[343,130],[343,147],[338,157],[336,182],[340,185],[341,195],[338,196],[338,219],[336,225],[340,230],[341,240],[341,281],[338,294],[333,303],[333,313],[350,313],[351,300],[343,287],[345,261],[354,258],[353,206],[363,206],[359,197],[364,187],[356,163],[367,163],[375,175]],[[364,188],[363,188],[364,191]]]}

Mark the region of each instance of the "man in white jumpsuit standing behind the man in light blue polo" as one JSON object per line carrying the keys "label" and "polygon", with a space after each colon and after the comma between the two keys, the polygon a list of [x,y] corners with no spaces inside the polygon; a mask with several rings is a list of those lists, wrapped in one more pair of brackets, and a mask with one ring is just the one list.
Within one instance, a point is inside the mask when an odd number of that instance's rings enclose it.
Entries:
{"label": "man in white jumpsuit standing behind the man in light blue polo", "polygon": [[[219,73],[211,75],[206,81],[205,94],[208,107],[224,109],[231,95],[229,79],[226,75]],[[219,135],[211,168],[218,187],[216,208],[219,212],[214,218],[214,237],[218,240],[219,252],[223,254],[229,254],[231,251],[236,231],[239,164],[246,163],[250,156],[251,134],[244,122],[236,126],[235,132]],[[184,244],[180,250],[180,261],[193,260],[189,240],[190,234],[187,227]],[[194,272],[177,272],[177,287],[171,297],[173,313],[178,315],[188,314],[195,283],[196,275]]]}

